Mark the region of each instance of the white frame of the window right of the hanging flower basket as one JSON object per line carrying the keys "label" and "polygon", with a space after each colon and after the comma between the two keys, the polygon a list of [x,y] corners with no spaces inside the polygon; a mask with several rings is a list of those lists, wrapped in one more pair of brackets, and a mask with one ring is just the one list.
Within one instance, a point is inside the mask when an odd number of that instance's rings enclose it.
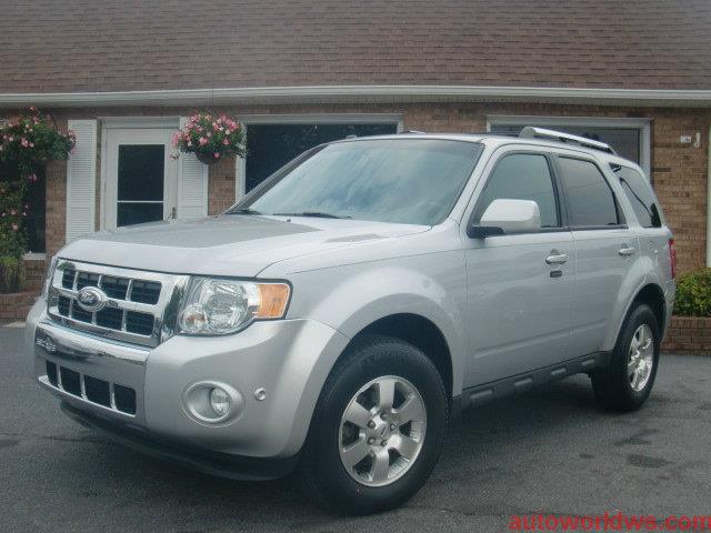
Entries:
{"label": "white frame of the window right of the hanging flower basket", "polygon": [[[246,114],[240,117],[246,137],[250,124],[392,124],[397,132],[404,129],[402,113],[303,113],[303,114]],[[234,199],[244,195],[247,188],[247,160],[237,158],[234,162]]]}

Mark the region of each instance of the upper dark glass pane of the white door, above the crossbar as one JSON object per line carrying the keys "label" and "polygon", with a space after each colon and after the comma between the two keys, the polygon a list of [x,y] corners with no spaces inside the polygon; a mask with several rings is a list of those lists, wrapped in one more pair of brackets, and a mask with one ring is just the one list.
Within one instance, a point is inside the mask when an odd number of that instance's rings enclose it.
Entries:
{"label": "upper dark glass pane of the white door, above the crossbar", "polygon": [[119,201],[163,201],[163,144],[121,144],[119,147]]}

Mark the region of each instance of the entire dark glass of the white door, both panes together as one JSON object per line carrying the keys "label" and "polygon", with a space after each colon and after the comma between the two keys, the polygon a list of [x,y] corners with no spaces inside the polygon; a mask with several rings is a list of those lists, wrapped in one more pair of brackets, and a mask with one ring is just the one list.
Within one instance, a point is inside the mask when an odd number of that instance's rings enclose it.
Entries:
{"label": "entire dark glass of the white door, both panes together", "polygon": [[119,147],[117,225],[163,219],[166,147]]}

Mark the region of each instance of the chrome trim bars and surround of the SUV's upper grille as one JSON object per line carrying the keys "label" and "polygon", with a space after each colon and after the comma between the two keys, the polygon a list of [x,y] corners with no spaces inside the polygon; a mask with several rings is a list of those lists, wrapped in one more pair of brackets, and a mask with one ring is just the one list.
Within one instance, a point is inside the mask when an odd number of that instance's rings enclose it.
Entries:
{"label": "chrome trim bars and surround of the SUV's upper grille", "polygon": [[[68,280],[64,280],[64,272],[68,270],[74,271],[71,289],[63,286],[63,282],[68,282]],[[89,276],[98,275],[97,286],[99,289],[101,289],[101,283],[104,276],[124,278],[129,280],[126,299],[109,296],[107,305],[104,306],[104,309],[113,308],[121,310],[122,315],[120,329],[112,329],[97,324],[97,312],[90,313],[91,321],[82,321],[73,318],[74,305],[78,305],[76,303],[77,294],[79,293],[77,284],[80,274],[87,274]],[[169,309],[171,313],[176,312],[177,302],[173,300],[177,298],[179,299],[182,294],[182,290],[176,289],[184,288],[188,280],[188,276],[184,275],[106,266],[102,264],[83,263],[62,259],[58,261],[57,268],[54,269],[54,272],[51,273],[51,276],[52,280],[48,294],[47,312],[53,321],[73,330],[84,331],[98,336],[150,348],[157,346],[163,340],[173,334],[172,324],[174,324],[174,318],[167,316],[166,310]],[[160,283],[158,301],[154,304],[130,301],[134,281]],[[63,315],[60,312],[60,296],[69,299],[68,315]],[[127,315],[130,312],[144,313],[153,318],[153,326],[150,334],[140,334],[127,330]]]}

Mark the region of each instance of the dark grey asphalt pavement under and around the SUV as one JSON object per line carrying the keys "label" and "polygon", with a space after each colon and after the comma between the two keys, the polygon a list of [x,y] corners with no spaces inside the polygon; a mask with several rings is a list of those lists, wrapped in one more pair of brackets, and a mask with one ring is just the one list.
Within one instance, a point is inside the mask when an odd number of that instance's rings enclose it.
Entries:
{"label": "dark grey asphalt pavement under and around the SUV", "polygon": [[240,483],[147,459],[64,419],[0,328],[0,531],[505,531],[513,514],[711,515],[711,358],[667,355],[638,413],[574,378],[469,411],[405,507],[342,519],[289,481]]}

